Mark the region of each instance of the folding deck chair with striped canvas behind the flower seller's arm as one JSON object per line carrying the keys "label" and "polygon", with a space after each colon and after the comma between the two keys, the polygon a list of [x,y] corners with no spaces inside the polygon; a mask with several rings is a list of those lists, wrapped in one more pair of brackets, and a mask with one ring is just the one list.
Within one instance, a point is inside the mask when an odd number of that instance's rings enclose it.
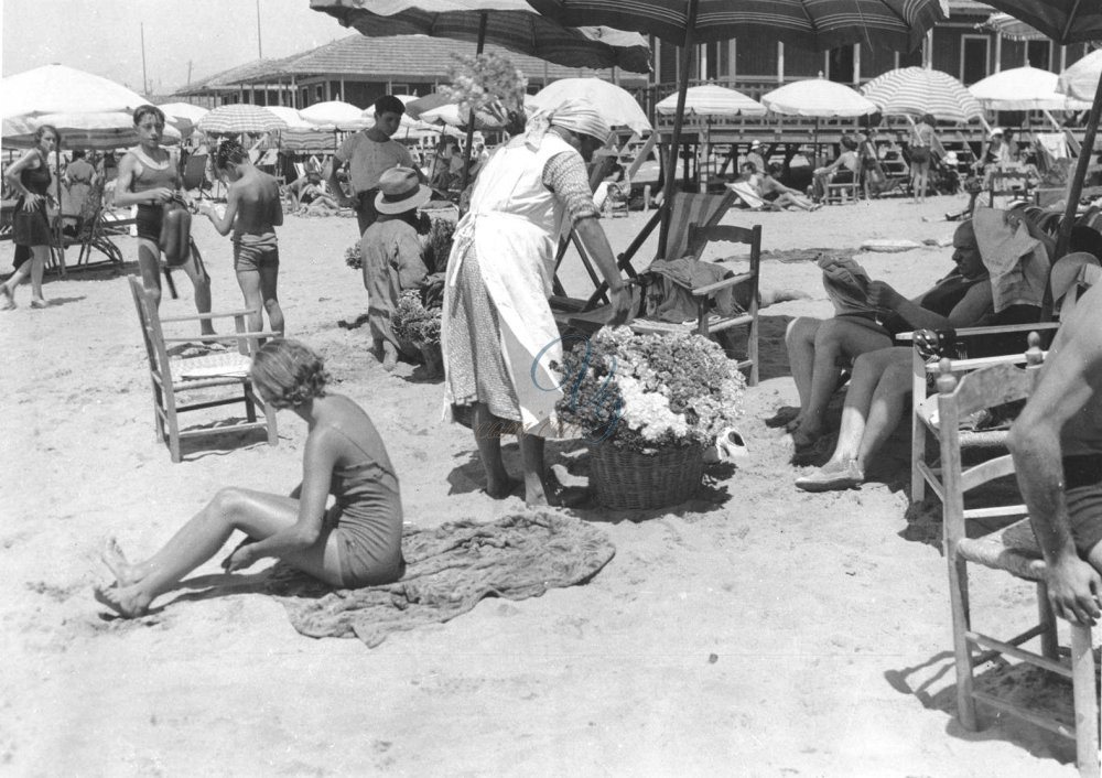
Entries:
{"label": "folding deck chair with striped canvas behind the flower seller's arm", "polygon": [[[687,253],[691,253],[696,259],[700,259],[701,252],[704,250],[705,239],[701,239],[698,246],[689,246],[689,226],[696,225],[699,227],[712,227],[717,225],[720,220],[726,215],[727,210],[734,204],[736,195],[734,192],[724,192],[722,194],[696,194],[690,192],[677,192],[670,198],[670,231],[667,238],[668,249],[666,252],[667,257],[684,257]],[[635,278],[635,268],[631,267],[631,260],[635,258],[636,252],[642,247],[650,237],[655,228],[661,223],[663,209],[659,208],[655,212],[650,220],[647,221],[646,226],[639,231],[627,249],[616,258],[616,267],[626,272],[629,278]],[[574,298],[569,298],[563,291],[562,283],[559,281],[558,271],[559,266],[562,263],[562,259],[566,252],[566,245],[559,247],[559,255],[555,258],[555,278],[553,280],[553,296],[551,298],[551,310],[555,314],[555,320],[559,322],[560,326],[571,327],[574,326],[575,320],[577,324],[581,324],[585,328],[595,328],[593,325],[595,323],[604,323],[607,315],[604,311],[598,310],[597,306],[602,302],[607,302],[608,284],[605,283],[603,279],[597,275],[596,270],[593,268],[593,262],[585,253],[585,249],[582,247],[581,241],[577,237],[571,234],[571,241],[574,244],[579,256],[582,258],[582,264],[585,268],[586,273],[593,281],[595,291],[590,295],[587,300],[579,300]],[[597,325],[599,326],[599,324]]]}

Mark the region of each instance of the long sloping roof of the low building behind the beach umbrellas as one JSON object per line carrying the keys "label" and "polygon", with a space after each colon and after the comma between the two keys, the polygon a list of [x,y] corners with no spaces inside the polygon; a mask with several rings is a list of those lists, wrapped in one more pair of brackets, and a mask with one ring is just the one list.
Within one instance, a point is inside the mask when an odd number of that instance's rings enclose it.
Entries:
{"label": "long sloping roof of the low building behind the beach umbrellas", "polygon": [[[563,67],[500,46],[486,45],[485,51],[507,57],[526,76],[539,80],[543,79],[544,74],[548,80],[553,80],[608,73],[607,69]],[[367,37],[356,34],[283,60],[258,61],[242,65],[242,68],[253,69],[241,75],[227,77],[224,73],[212,78],[217,79],[219,84],[233,82],[236,85],[285,79],[290,76],[369,76],[375,80],[398,82],[409,78],[446,80],[449,69],[456,64],[452,54],[474,53],[475,44],[464,41],[425,35]],[[266,64],[261,66],[261,63]],[[622,83],[646,84],[647,80],[645,75],[625,71],[618,73],[618,78]]]}

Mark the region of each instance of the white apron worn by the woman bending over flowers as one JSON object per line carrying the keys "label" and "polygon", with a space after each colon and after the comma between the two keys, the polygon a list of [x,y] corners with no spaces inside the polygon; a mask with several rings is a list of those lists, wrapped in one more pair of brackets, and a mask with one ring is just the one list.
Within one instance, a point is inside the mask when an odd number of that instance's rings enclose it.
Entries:
{"label": "white apron worn by the woman bending over flowers", "polygon": [[[543,168],[555,154],[577,153],[553,132],[538,151],[518,137],[497,150],[478,175],[471,210],[455,229],[447,263],[444,310],[449,311],[460,267],[474,248],[480,277],[497,309],[501,353],[520,401],[525,432],[553,437],[555,403],[562,398],[551,363],[562,359],[559,328],[548,298],[554,274],[554,252],[562,231],[564,208],[543,185]],[[447,327],[441,333],[444,371]],[[451,383],[444,381],[444,412],[451,418]]]}

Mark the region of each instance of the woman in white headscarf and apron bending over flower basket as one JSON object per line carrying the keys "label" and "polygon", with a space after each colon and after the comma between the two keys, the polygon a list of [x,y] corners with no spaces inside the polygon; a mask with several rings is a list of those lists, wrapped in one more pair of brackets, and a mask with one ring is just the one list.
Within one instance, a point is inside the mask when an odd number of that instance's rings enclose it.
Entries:
{"label": "woman in white headscarf and apron bending over flower basket", "polygon": [[486,162],[456,228],[442,323],[445,406],[471,409],[486,491],[495,498],[518,486],[501,462],[504,431],[520,437],[526,503],[558,500],[543,440],[558,434],[555,402],[563,396],[551,369],[562,347],[548,303],[561,235],[573,228],[608,282],[611,323],[630,315],[631,295],[585,172],[611,134],[586,101],[537,115]]}

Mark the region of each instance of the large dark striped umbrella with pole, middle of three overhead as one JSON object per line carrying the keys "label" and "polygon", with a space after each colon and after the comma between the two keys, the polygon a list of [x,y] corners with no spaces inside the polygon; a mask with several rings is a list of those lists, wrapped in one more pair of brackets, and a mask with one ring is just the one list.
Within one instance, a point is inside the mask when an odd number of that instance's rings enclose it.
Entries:
{"label": "large dark striped umbrella with pole, middle of three overhead", "polygon": [[607,24],[655,35],[680,46],[678,106],[662,188],[659,248],[669,233],[673,170],[689,88],[691,60],[699,43],[764,34],[801,48],[824,51],[867,42],[877,47],[912,51],[926,31],[946,18],[940,0],[528,0],[561,24]]}

